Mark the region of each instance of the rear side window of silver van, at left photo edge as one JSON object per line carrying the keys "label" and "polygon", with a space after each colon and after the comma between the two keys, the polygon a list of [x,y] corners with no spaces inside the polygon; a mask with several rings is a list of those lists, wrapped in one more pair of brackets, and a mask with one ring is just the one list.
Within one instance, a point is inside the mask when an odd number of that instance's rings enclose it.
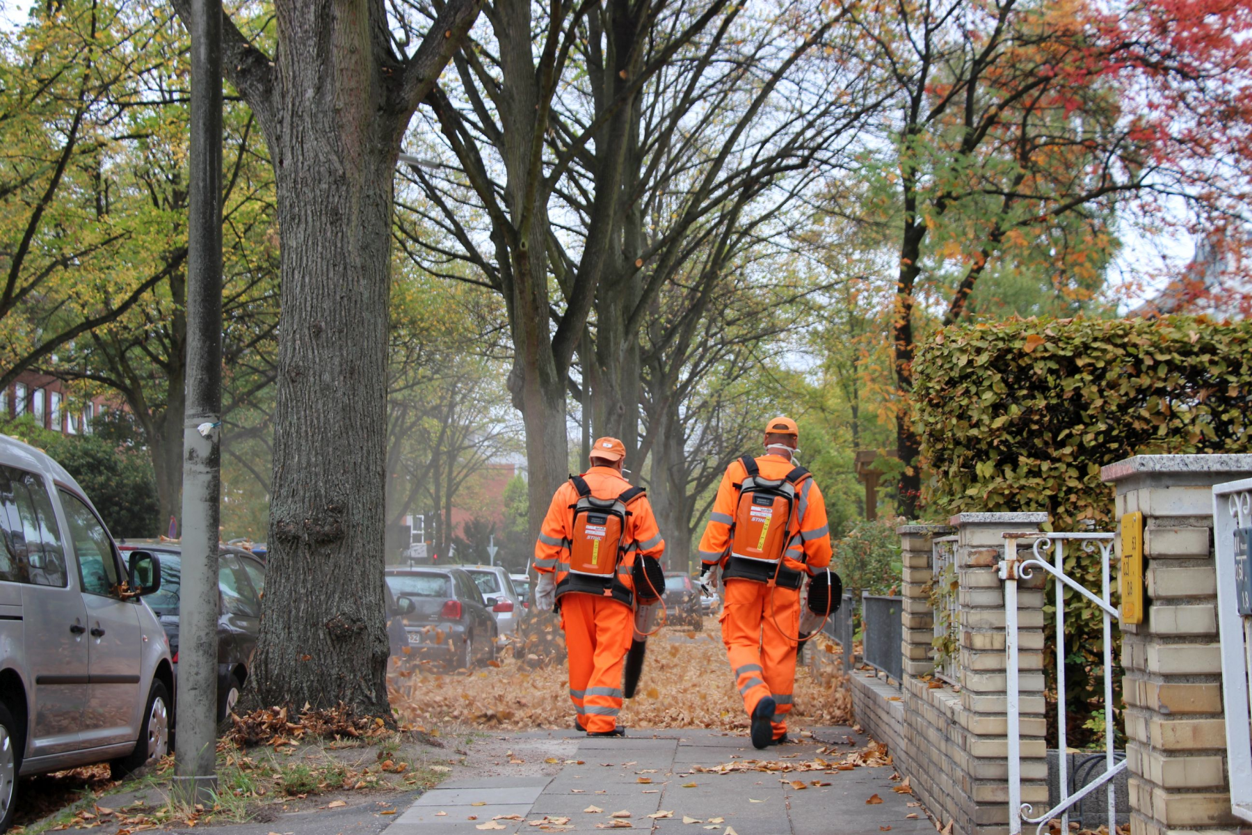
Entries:
{"label": "rear side window of silver van, at left photo edge", "polygon": [[64,587],[65,553],[44,479],[23,469],[0,467],[0,506],[5,540],[0,580]]}

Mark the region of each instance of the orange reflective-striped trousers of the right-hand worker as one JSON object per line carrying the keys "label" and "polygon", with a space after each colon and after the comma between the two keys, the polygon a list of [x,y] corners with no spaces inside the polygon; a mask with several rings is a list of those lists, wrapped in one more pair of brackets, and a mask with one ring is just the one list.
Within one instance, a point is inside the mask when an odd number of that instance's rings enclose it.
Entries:
{"label": "orange reflective-striped trousers of the right-hand worker", "polygon": [[786,715],[791,712],[799,632],[799,590],[771,590],[751,580],[726,581],[721,612],[726,657],[749,716],[756,702],[774,696],[774,739],[786,732]]}

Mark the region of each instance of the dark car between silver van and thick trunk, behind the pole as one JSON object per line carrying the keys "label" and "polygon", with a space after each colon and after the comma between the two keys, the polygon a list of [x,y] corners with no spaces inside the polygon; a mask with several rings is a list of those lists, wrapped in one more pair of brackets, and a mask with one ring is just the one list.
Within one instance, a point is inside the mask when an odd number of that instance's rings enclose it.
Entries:
{"label": "dark car between silver van and thick trunk, behind the pole", "polygon": [[[183,546],[177,542],[128,540],[118,548],[155,553],[160,558],[160,590],[145,597],[169,636],[169,651],[178,676],[178,603],[183,572]],[[248,680],[260,630],[260,593],[265,566],[242,548],[223,546],[218,552],[218,720],[239,700]]]}

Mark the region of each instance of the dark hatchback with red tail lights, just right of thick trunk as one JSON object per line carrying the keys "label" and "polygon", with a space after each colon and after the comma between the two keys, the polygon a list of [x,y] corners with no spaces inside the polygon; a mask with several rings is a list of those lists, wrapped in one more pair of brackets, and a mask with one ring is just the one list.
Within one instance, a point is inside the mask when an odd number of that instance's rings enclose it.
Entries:
{"label": "dark hatchback with red tail lights, just right of thick trunk", "polygon": [[387,587],[403,615],[411,655],[470,669],[496,657],[500,630],[478,585],[461,568],[388,568]]}

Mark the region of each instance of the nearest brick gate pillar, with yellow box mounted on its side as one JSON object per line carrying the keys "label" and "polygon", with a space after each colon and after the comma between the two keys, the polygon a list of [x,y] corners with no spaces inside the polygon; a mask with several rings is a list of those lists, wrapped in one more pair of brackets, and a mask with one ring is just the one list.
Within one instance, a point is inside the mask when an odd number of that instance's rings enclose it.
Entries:
{"label": "nearest brick gate pillar, with yellow box mounted on its side", "polygon": [[[1136,456],[1104,467],[1117,522],[1143,513],[1146,615],[1122,623],[1132,835],[1233,830],[1217,636],[1212,486],[1252,456]],[[1117,553],[1122,556],[1121,536]]]}

